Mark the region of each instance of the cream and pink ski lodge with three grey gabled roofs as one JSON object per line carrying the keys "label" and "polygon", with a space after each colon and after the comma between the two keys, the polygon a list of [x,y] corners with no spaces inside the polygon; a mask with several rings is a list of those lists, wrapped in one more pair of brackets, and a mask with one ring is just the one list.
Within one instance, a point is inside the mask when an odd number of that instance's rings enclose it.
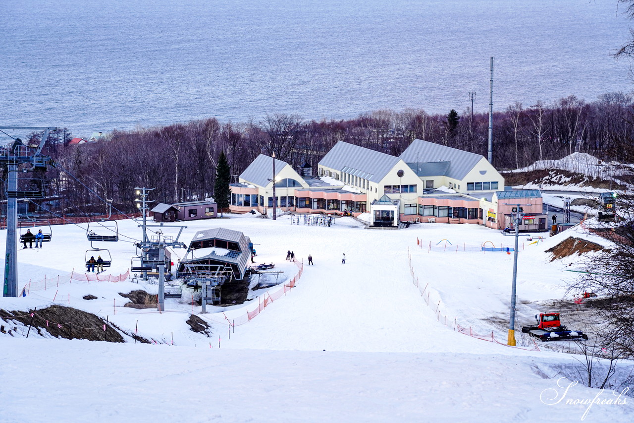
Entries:
{"label": "cream and pink ski lodge with three grey gabled roofs", "polygon": [[275,180],[277,213],[368,212],[371,227],[436,222],[504,229],[512,227],[512,208],[520,204],[521,231],[547,229],[540,191],[505,190],[484,156],[432,142],[414,140],[396,157],[340,141],[319,162],[318,177],[309,164],[296,171],[260,154],[231,184],[230,210],[272,213]]}

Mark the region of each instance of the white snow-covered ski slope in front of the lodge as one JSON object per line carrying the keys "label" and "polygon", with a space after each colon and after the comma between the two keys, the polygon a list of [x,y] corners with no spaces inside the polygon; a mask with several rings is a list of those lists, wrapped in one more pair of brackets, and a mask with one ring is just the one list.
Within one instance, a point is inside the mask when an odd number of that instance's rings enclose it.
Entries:
{"label": "white snow-covered ski slope in front of the lodge", "polygon": [[[127,300],[118,295],[139,286],[155,292],[152,284],[72,281],[53,286],[57,274],[81,268],[88,248],[81,227],[54,227],[53,241],[43,250],[18,252],[20,288],[31,279],[29,296],[1,299],[0,309],[29,310],[68,298],[72,307],[108,316],[122,329],[133,331],[138,321],[146,337],[171,344],[173,335],[174,346],[0,333],[0,356],[11,363],[0,367],[5,400],[0,422],[491,422],[540,421],[545,415],[549,421],[576,421],[587,408],[549,405],[556,400],[543,395],[540,399],[545,389],[563,393],[557,379],[575,374],[573,356],[513,349],[454,330],[452,323],[458,323],[506,339],[512,255],[479,247],[507,246],[512,237],[478,225],[365,230],[353,218],[338,218],[330,228],[252,215],[186,225],[186,243],[200,229],[245,232],[257,244],[257,261],[275,262],[285,278],[297,269],[285,260],[290,249],[304,260],[302,277],[291,292],[235,332],[216,322],[256,309],[262,298],[222,310],[208,307],[224,311],[200,315],[212,322],[209,339],[184,323],[192,311],[188,292],[180,301],[167,299],[167,311],[159,314],[124,308]],[[127,241],[140,237],[134,221],[119,222],[119,229]],[[536,310],[528,302],[564,295],[568,262],[550,262],[545,253],[560,239],[520,246],[518,326],[533,323]],[[106,244],[112,273],[125,272],[133,244]],[[306,265],[309,254],[314,266]],[[408,254],[418,285],[427,286],[425,295],[412,283]],[[46,290],[40,281],[44,275]],[[98,299],[82,300],[88,293]],[[200,307],[193,311],[200,313]],[[526,348],[531,345],[525,342]],[[592,400],[598,393],[574,386],[566,395]],[[605,399],[611,395],[602,394]],[[594,405],[585,421],[631,421],[633,411],[630,405]]]}

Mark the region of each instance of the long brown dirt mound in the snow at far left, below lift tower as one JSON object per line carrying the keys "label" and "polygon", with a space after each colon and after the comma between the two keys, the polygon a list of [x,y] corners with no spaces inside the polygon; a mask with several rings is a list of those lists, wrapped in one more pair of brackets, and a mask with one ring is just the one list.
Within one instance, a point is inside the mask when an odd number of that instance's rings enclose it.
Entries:
{"label": "long brown dirt mound in the snow at far left, below lift tower", "polygon": [[[33,313],[33,317],[30,314]],[[46,309],[36,311],[5,311],[0,309],[1,316],[15,316],[3,318],[4,321],[18,321],[24,326],[31,325],[31,334],[44,335],[48,332],[53,337],[65,339],[88,339],[108,342],[124,342],[119,328],[106,324],[106,321],[92,313],[77,310],[62,305],[51,305]],[[104,332],[103,326],[106,330]],[[143,341],[141,341],[143,342]]]}

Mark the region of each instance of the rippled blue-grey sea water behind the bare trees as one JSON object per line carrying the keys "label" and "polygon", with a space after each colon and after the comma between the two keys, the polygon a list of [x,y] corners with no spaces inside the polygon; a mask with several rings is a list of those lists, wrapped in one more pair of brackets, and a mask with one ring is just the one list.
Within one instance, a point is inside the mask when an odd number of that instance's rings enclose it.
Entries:
{"label": "rippled blue-grey sea water behind the bare trees", "polygon": [[[0,125],[462,114],[630,91],[616,0],[0,1]],[[623,6],[621,6],[623,8]]]}

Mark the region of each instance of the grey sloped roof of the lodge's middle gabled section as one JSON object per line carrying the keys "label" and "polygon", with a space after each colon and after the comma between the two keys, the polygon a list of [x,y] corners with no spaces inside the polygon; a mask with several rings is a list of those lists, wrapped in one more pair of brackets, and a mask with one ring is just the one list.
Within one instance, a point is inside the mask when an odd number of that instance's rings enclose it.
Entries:
{"label": "grey sloped roof of the lodge's middle gabled section", "polygon": [[371,182],[381,182],[398,162],[396,156],[339,141],[319,164]]}

